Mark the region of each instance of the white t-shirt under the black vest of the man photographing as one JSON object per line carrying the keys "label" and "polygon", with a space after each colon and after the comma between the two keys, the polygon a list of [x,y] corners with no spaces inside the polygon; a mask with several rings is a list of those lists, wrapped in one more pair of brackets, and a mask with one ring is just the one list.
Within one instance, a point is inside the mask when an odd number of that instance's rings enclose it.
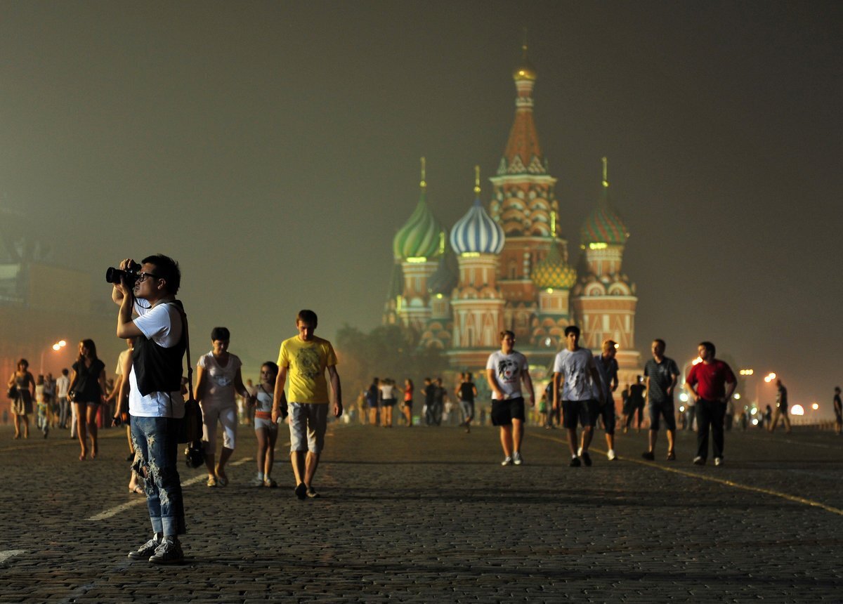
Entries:
{"label": "white t-shirt under the black vest of the man photographing", "polygon": [[[146,302],[146,301],[144,301]],[[164,348],[172,348],[181,339],[181,313],[175,304],[158,304],[153,308],[142,307],[135,301],[134,320],[137,329],[153,340],[153,343]],[[129,373],[129,414],[136,417],[172,417],[180,419],[185,416],[185,398],[179,391],[174,393],[148,393],[141,396],[137,389],[135,366]]]}

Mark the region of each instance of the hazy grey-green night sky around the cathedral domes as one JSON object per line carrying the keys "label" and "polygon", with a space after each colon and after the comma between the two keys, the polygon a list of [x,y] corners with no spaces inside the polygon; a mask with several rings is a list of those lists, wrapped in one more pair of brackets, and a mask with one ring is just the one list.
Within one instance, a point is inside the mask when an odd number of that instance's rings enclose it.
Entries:
{"label": "hazy grey-green night sky around the cathedral domes", "polygon": [[[0,205],[90,270],[173,255],[196,353],[370,329],[418,198],[483,198],[522,28],[572,257],[609,157],[636,341],[701,339],[793,403],[843,383],[843,4],[0,1]],[[57,260],[58,261],[58,260]],[[103,285],[103,297],[108,287]]]}

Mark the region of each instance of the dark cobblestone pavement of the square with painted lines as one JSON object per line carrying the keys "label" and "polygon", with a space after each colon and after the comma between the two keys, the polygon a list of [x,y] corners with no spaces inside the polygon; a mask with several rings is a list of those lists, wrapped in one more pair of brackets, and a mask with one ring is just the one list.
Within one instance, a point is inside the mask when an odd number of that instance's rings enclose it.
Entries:
{"label": "dark cobblestone pavement of the square with painted lines", "polygon": [[497,431],[332,425],[322,497],[248,486],[240,428],[231,484],[180,467],[187,562],[126,559],[150,532],[129,494],[122,430],[79,462],[66,430],[14,441],[0,427],[0,601],[841,601],[843,438],[728,432],[721,468],[642,460],[647,435],[602,433],[568,468],[561,430],[529,427],[502,468]]}

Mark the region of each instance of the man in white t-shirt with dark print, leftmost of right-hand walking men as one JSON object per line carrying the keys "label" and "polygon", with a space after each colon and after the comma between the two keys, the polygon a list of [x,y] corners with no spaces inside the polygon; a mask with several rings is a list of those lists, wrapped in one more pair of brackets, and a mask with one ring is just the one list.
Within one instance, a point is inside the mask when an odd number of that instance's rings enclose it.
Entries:
{"label": "man in white t-shirt with dark print, leftmost of right-hand walking men", "polygon": [[486,361],[486,380],[491,388],[491,423],[501,426],[502,466],[524,463],[521,441],[524,437],[524,396],[521,382],[529,390],[529,404],[535,406],[533,382],[529,378],[527,358],[513,349],[515,334],[501,332],[501,350]]}

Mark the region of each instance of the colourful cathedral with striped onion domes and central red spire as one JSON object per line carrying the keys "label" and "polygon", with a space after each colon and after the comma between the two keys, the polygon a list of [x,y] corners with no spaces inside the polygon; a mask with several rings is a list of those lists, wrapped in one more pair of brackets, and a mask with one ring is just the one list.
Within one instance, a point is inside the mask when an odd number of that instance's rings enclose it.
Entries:
{"label": "colourful cathedral with striped onion domes and central red spire", "polygon": [[499,332],[511,329],[537,379],[546,377],[564,345],[566,326],[577,324],[581,345],[595,354],[605,339],[617,342],[623,388],[642,363],[635,348],[635,285],[622,272],[629,235],[609,199],[606,159],[600,194],[579,229],[575,267],[559,229],[570,218],[560,216],[556,178],[534,123],[536,73],[526,46],[513,80],[515,117],[487,205],[477,168],[474,202],[452,227],[443,227],[427,206],[422,159],[419,201],[393,240],[384,323],[414,330],[420,345],[448,355],[454,371],[475,372],[498,348]]}

